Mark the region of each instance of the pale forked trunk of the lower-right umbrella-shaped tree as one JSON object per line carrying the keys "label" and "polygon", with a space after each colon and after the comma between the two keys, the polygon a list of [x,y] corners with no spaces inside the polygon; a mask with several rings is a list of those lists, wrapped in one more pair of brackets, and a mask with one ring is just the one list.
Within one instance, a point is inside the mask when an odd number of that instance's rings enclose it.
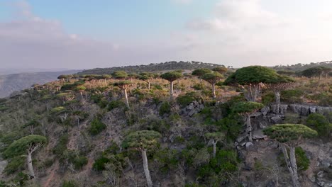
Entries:
{"label": "pale forked trunk of the lower-right umbrella-shaped tree", "polygon": [[288,152],[286,146],[282,145],[282,153],[284,154],[284,160],[286,161],[289,173],[292,176],[293,186],[300,187],[299,176],[297,175],[297,161],[295,158],[295,147],[290,147],[290,159],[288,157]]}

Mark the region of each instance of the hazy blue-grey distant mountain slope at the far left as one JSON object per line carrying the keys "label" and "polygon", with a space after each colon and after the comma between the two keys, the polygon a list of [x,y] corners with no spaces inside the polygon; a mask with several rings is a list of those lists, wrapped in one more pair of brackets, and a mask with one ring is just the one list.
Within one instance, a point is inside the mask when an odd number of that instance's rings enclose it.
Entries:
{"label": "hazy blue-grey distant mountain slope at the far left", "polygon": [[0,75],[0,98],[9,96],[13,91],[28,89],[33,84],[45,84],[49,81],[54,81],[60,74],[74,74],[77,72],[79,70]]}

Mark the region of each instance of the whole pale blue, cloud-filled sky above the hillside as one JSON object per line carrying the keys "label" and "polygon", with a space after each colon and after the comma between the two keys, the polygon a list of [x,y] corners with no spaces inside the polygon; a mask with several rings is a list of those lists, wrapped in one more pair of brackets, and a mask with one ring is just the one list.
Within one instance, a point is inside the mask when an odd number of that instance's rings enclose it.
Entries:
{"label": "whole pale blue, cloud-filled sky above the hillside", "polygon": [[331,0],[0,0],[0,68],[332,60]]}

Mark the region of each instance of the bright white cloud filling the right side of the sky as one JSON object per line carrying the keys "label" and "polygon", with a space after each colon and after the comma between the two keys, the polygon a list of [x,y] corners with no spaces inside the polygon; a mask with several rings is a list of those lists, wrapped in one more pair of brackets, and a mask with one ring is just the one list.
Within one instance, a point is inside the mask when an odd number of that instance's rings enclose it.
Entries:
{"label": "bright white cloud filling the right side of the sky", "polygon": [[296,11],[284,17],[260,0],[223,0],[210,18],[187,23],[188,33],[201,36],[199,47],[189,55],[236,67],[331,60],[328,18],[316,12],[298,16]]}

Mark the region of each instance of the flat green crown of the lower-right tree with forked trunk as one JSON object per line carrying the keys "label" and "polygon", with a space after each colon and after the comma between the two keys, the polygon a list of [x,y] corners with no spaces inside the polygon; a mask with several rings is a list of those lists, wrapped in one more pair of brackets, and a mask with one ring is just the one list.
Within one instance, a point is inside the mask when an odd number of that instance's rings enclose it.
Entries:
{"label": "flat green crown of the lower-right tree with forked trunk", "polygon": [[300,139],[313,138],[317,136],[316,130],[299,124],[272,125],[263,130],[265,135],[278,142],[287,143]]}

